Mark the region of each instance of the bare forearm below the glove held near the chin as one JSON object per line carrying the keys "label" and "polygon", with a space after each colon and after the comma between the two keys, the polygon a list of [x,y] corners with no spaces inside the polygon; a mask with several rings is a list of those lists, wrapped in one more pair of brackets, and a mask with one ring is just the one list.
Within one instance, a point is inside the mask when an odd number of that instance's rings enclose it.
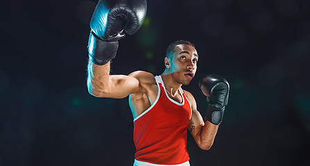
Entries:
{"label": "bare forearm below the glove held near the chin", "polygon": [[202,127],[199,134],[200,139],[198,142],[198,146],[201,149],[209,150],[213,145],[217,131],[218,131],[218,125],[206,121],[205,125]]}

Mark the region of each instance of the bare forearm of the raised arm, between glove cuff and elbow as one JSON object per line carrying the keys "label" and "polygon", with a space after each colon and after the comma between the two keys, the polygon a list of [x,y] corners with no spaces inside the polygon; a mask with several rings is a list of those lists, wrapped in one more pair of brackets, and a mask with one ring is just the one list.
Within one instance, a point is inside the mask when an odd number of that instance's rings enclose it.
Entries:
{"label": "bare forearm of the raised arm, between glove cuff and elbow", "polygon": [[110,91],[110,62],[105,65],[96,65],[89,60],[87,66],[87,88],[90,94],[101,97]]}

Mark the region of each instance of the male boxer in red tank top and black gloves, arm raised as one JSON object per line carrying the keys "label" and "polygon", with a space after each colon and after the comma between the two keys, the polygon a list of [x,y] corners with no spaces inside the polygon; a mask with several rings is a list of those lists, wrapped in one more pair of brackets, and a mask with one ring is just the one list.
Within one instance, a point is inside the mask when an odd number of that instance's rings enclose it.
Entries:
{"label": "male boxer in red tank top and black gloves, arm raised", "polygon": [[146,71],[110,75],[124,33],[135,33],[146,14],[145,0],[101,0],[90,22],[87,87],[98,98],[126,98],[134,118],[135,166],[189,165],[187,129],[201,149],[208,150],[222,122],[229,85],[218,75],[200,80],[207,96],[207,121],[196,101],[182,90],[193,79],[198,53],[190,42],[173,42],[166,50],[165,69],[154,76]]}

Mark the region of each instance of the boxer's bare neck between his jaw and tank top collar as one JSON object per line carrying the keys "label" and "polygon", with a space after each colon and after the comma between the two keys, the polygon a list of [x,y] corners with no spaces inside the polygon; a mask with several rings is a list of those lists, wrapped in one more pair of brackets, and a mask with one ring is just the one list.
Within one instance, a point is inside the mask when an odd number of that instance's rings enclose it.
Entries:
{"label": "boxer's bare neck between his jaw and tank top collar", "polygon": [[171,73],[166,70],[162,73],[162,81],[164,82],[164,86],[166,91],[169,91],[171,95],[176,95],[178,93],[178,89],[182,86],[182,84],[176,82]]}

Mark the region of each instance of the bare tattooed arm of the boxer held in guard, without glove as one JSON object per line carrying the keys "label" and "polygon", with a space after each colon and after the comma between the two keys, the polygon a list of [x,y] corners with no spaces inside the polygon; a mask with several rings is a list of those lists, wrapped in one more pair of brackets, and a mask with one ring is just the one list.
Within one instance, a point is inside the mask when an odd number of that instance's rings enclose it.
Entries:
{"label": "bare tattooed arm of the boxer held in guard, without glove", "polygon": [[191,103],[191,110],[193,111],[189,121],[189,132],[201,149],[209,150],[213,145],[218,125],[212,124],[209,121],[203,122],[203,118],[199,111],[197,111],[195,98],[187,91],[185,91],[185,94]]}

